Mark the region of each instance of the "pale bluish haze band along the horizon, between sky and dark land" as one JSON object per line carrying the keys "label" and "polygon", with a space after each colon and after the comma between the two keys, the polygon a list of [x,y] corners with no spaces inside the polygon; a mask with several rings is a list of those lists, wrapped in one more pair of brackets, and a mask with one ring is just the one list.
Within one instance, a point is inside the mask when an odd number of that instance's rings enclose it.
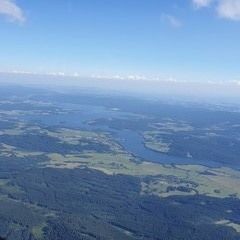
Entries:
{"label": "pale bluish haze band along the horizon, between sky and dark land", "polygon": [[0,73],[0,84],[50,88],[66,92],[87,89],[109,94],[128,94],[156,99],[175,99],[214,104],[238,104],[240,84],[237,81],[199,82],[157,79],[118,79],[107,77],[54,76],[31,73]]}

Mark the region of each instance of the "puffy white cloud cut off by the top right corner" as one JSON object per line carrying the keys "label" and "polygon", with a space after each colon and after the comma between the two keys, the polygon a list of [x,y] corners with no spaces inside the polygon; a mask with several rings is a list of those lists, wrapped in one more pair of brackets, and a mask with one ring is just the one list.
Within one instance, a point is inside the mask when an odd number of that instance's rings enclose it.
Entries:
{"label": "puffy white cloud cut off by the top right corner", "polygon": [[240,0],[221,0],[217,13],[222,18],[240,21]]}

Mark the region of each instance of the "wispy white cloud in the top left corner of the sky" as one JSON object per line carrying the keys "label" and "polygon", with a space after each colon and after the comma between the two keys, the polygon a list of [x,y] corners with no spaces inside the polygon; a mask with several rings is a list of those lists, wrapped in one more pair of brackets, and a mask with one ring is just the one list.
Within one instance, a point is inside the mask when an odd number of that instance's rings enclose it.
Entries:
{"label": "wispy white cloud in the top left corner of the sky", "polygon": [[23,23],[25,17],[22,9],[14,0],[0,0],[0,15],[8,17],[11,21]]}

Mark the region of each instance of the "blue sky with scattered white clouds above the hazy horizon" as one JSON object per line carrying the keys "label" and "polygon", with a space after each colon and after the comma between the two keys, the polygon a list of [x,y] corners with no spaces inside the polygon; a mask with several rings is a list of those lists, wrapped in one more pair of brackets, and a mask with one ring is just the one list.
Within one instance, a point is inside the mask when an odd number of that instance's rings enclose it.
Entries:
{"label": "blue sky with scattered white clouds above the hazy horizon", "polygon": [[0,0],[0,71],[240,80],[240,0]]}

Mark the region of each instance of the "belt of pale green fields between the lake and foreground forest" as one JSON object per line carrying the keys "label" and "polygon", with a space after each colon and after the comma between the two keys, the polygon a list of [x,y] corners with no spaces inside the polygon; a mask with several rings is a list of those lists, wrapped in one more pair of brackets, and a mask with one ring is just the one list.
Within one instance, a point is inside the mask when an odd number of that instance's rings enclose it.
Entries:
{"label": "belt of pale green fields between the lake and foreground forest", "polygon": [[[50,131],[39,127],[21,126],[21,131],[19,129],[15,132],[14,130],[6,130],[5,134],[21,135],[27,132],[45,134],[56,138],[59,143],[63,144],[81,145],[81,142],[83,142],[83,149],[84,146],[91,143],[104,144],[109,147],[110,152],[87,150],[68,154],[32,152],[19,149],[17,146],[2,144],[1,155],[14,154],[19,158],[45,156],[46,161],[39,163],[41,168],[91,168],[108,175],[138,176],[142,178],[141,194],[154,194],[159,197],[202,194],[219,198],[229,196],[240,198],[240,173],[230,168],[208,168],[201,165],[163,165],[140,161],[125,152],[106,133],[63,128]],[[145,181],[146,177],[152,178]],[[5,188],[7,187],[5,186]]]}

